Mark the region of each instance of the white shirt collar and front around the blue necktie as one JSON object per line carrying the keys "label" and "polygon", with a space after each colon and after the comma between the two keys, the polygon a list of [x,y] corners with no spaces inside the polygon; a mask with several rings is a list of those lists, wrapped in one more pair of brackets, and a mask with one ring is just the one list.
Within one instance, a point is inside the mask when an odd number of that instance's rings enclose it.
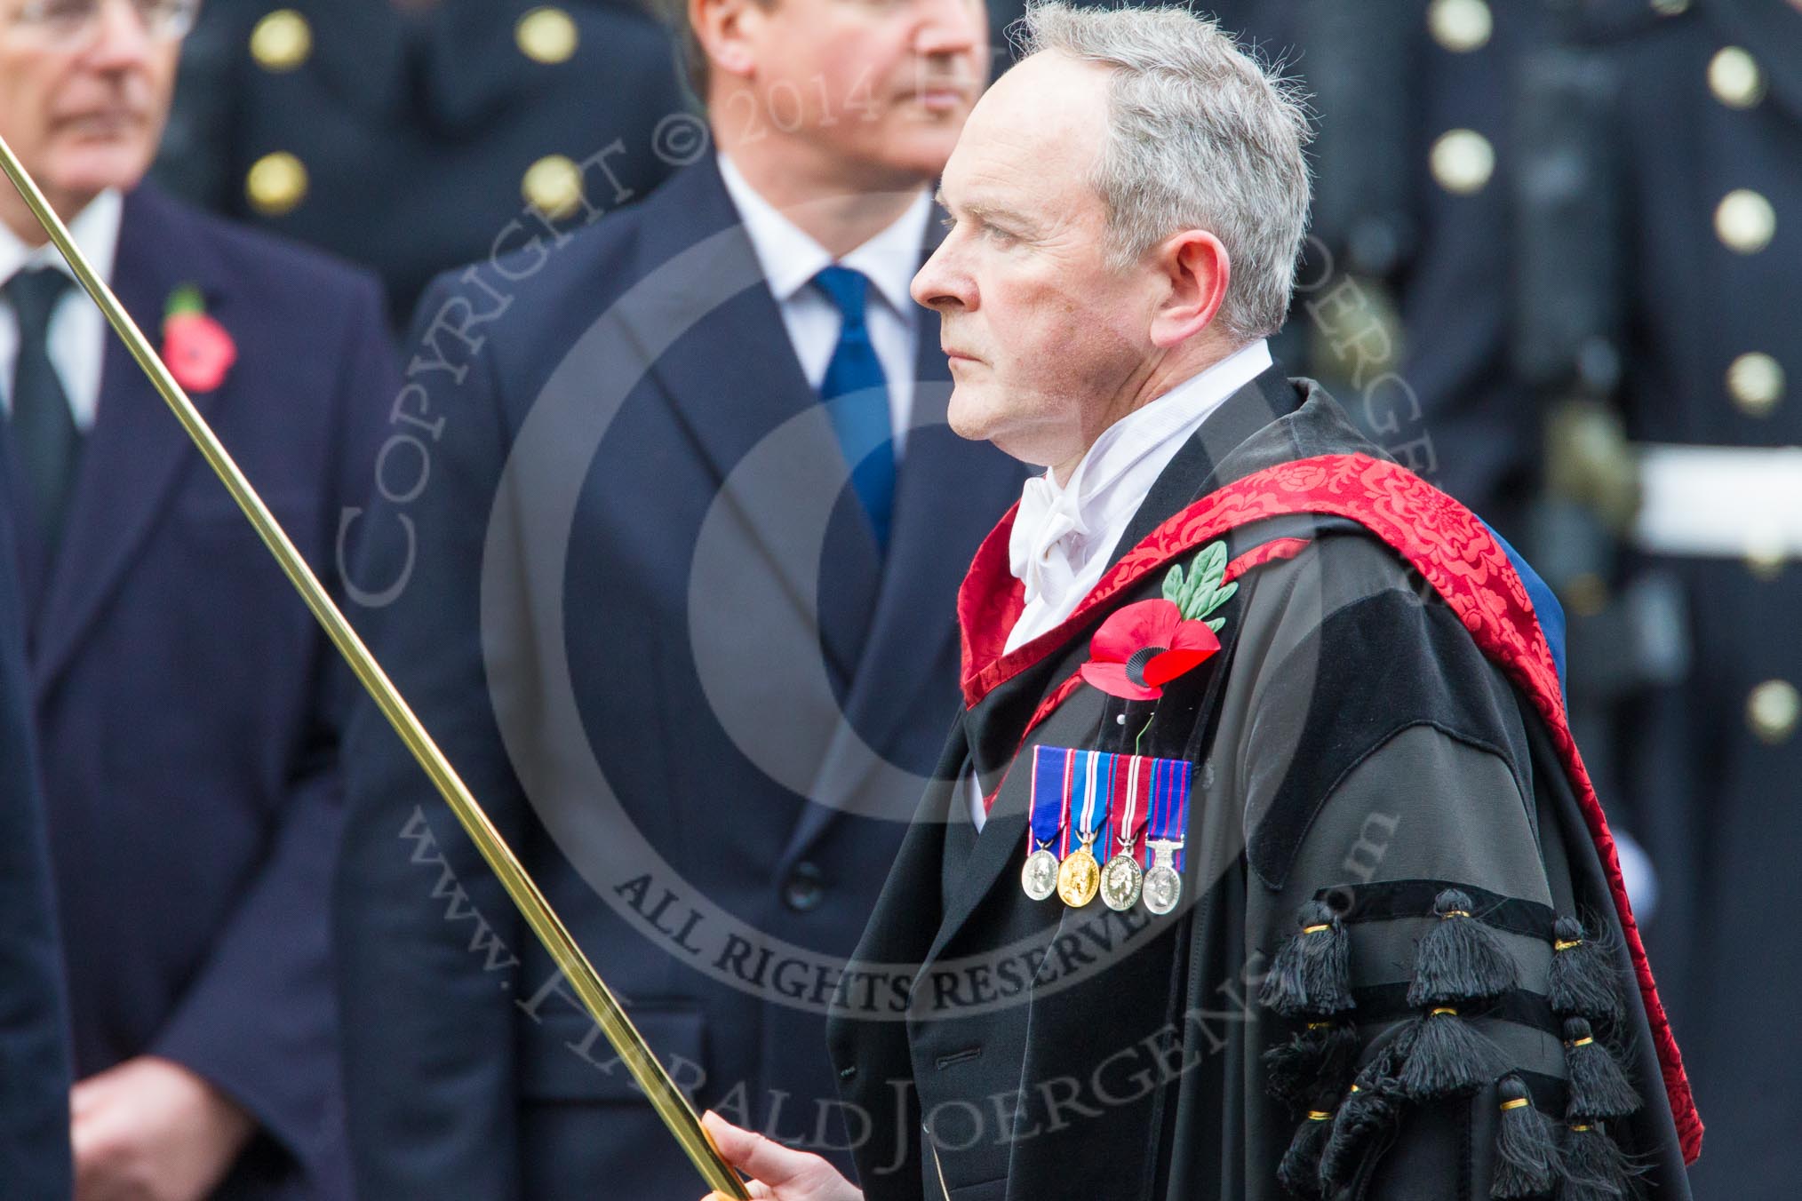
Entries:
{"label": "white shirt collar and front around the blue necktie", "polygon": [[[769,293],[782,310],[795,357],[807,384],[820,389],[825,369],[838,348],[843,317],[838,306],[818,288],[809,286],[820,268],[833,265],[833,256],[818,241],[802,232],[782,211],[764,200],[746,182],[726,155],[719,155],[719,173],[726,180],[732,205],[744,220],[757,263],[764,268]],[[906,430],[914,416],[914,362],[919,349],[919,306],[908,295],[908,286],[919,272],[921,248],[926,245],[926,221],[932,220],[932,196],[921,189],[892,225],[861,247],[838,259],[840,266],[863,272],[870,281],[870,301],[865,321],[876,360],[883,366],[888,384],[888,420],[896,438],[896,461],[906,448]]]}

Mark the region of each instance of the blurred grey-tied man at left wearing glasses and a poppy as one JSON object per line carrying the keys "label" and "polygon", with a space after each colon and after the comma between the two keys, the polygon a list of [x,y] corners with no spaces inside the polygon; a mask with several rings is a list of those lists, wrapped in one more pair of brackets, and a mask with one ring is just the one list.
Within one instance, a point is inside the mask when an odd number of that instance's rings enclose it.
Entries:
{"label": "blurred grey-tied man at left wearing glasses and a poppy", "polygon": [[[0,131],[335,580],[393,396],[382,299],[141,185],[195,7],[0,0]],[[344,1196],[324,917],[342,675],[11,191],[0,297],[76,1194]]]}

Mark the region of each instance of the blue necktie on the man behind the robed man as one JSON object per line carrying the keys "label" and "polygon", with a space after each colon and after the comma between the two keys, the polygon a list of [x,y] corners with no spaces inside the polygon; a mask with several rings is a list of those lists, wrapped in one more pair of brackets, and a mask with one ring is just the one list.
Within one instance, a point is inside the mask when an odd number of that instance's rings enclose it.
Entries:
{"label": "blue necktie on the man behind the robed man", "polygon": [[813,283],[838,306],[845,322],[838,346],[820,382],[820,400],[833,418],[833,432],[851,465],[851,486],[876,529],[876,546],[888,549],[888,519],[896,501],[894,427],[888,416],[888,382],[870,344],[865,301],[870,281],[849,266],[827,266]]}

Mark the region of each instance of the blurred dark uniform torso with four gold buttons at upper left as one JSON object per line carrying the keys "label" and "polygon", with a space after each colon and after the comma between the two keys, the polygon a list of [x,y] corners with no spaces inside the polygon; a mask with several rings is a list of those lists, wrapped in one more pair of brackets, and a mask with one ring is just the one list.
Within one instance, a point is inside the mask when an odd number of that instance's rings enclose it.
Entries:
{"label": "blurred dark uniform torso with four gold buttons at upper left", "polygon": [[523,212],[642,198],[685,106],[627,0],[209,0],[157,178],[375,268],[402,324],[434,274],[524,241]]}

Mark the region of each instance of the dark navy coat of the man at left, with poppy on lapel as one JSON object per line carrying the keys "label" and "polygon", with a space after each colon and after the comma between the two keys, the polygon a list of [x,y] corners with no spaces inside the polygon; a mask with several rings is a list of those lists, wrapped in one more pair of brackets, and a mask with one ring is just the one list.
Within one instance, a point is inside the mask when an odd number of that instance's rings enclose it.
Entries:
{"label": "dark navy coat of the man at left, with poppy on lapel", "polygon": [[[195,400],[335,582],[395,387],[380,290],[141,187],[114,288],[157,340],[186,283],[238,346]],[[344,675],[117,340],[61,549],[25,560],[76,1077],[173,1059],[263,1127],[229,1194],[299,1169],[342,1196],[324,893]]]}

